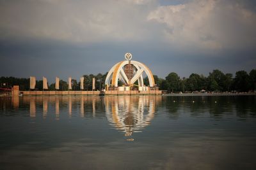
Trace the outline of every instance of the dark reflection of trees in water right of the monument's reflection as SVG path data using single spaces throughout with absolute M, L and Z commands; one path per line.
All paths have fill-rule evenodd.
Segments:
M 243 102 L 237 101 L 237 99 Z M 182 111 L 189 111 L 192 117 L 199 117 L 209 113 L 211 117 L 221 118 L 225 113 L 233 112 L 234 104 L 241 106 L 243 103 L 247 105 L 241 106 L 241 110 L 251 108 L 253 113 L 252 106 L 254 106 L 253 102 L 255 101 L 251 99 L 250 103 L 248 103 L 248 99 L 241 99 L 241 96 L 238 96 L 237 99 L 234 96 L 170 96 L 164 97 L 163 103 L 172 118 L 179 117 Z

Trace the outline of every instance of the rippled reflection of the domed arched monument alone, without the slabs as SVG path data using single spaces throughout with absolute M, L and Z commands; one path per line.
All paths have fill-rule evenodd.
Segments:
M 156 99 L 161 99 L 161 97 L 106 97 L 106 117 L 111 125 L 123 131 L 126 137 L 131 137 L 133 132 L 141 132 L 154 118 Z M 134 139 L 127 140 L 133 141 Z

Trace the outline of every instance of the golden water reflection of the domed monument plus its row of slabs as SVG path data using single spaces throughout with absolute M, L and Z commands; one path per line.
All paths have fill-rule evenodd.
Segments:
M 49 113 L 49 101 L 55 103 L 56 120 L 60 120 L 60 100 L 61 107 L 68 106 L 68 116 L 72 117 L 72 104 L 79 102 L 80 117 L 84 117 L 84 105 L 91 108 L 92 117 L 96 117 L 96 106 L 102 107 L 106 111 L 108 121 L 117 130 L 125 133 L 124 136 L 131 137 L 133 132 L 141 132 L 150 124 L 156 111 L 156 104 L 162 100 L 161 96 L 106 96 L 100 97 L 73 97 L 72 96 L 56 96 L 56 97 L 29 97 L 30 99 L 30 117 L 36 117 L 36 103 L 43 106 L 43 117 L 47 117 Z M 28 102 L 28 97 L 24 97 L 24 103 Z M 84 104 L 85 103 L 85 104 Z M 14 106 L 14 104 L 13 104 Z M 97 108 L 98 109 L 98 108 Z M 104 116 L 104 115 L 102 115 Z M 128 139 L 132 141 L 133 139 Z

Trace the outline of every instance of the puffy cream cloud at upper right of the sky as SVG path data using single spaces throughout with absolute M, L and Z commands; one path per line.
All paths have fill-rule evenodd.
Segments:
M 255 42 L 256 15 L 237 3 L 195 0 L 186 4 L 159 6 L 147 18 L 162 24 L 168 41 L 202 48 L 230 48 Z M 253 29 L 252 29 L 253 28 Z

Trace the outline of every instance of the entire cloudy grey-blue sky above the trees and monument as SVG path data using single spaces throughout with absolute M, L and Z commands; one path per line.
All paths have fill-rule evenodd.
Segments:
M 164 78 L 256 68 L 246 0 L 0 0 L 0 76 L 106 73 L 131 52 Z

